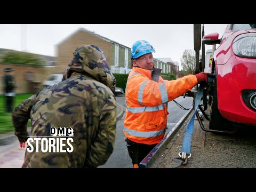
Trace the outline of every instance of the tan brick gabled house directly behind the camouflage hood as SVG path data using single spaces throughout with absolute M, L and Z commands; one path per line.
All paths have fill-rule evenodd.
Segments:
M 127 74 L 131 70 L 130 47 L 119 44 L 92 31 L 79 28 L 57 45 L 58 67 L 55 73 L 63 73 L 77 47 L 94 44 L 104 52 L 113 73 Z

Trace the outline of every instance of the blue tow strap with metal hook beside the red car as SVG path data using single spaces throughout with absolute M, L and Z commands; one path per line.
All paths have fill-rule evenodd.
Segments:
M 216 76 L 216 74 L 213 74 L 214 76 Z M 212 82 L 214 78 L 208 77 L 208 82 Z M 191 140 L 192 140 L 192 134 L 193 134 L 193 130 L 194 130 L 194 120 L 195 120 L 195 115 L 196 115 L 196 111 L 198 108 L 198 105 L 201 101 L 201 98 L 203 96 L 203 87 L 198 87 L 197 92 L 196 92 L 196 97 L 195 97 L 195 110 L 194 113 L 188 123 L 188 127 L 185 131 L 185 135 L 183 138 L 183 142 L 182 142 L 182 148 L 180 150 L 180 154 L 182 158 L 186 158 L 186 155 L 190 154 L 190 149 L 191 149 Z M 191 155 L 191 154 L 190 154 Z M 189 155 L 189 157 L 190 157 Z M 188 158 L 189 158 L 188 157 Z

